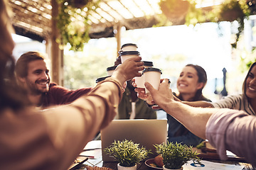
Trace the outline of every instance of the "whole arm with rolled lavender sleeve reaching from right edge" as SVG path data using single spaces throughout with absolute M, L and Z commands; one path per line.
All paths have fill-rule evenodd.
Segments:
M 154 89 L 148 82 L 145 83 L 156 104 L 193 134 L 203 139 L 207 137 L 210 144 L 217 149 L 220 159 L 227 159 L 226 150 L 230 150 L 256 166 L 255 116 L 228 108 L 195 108 L 174 101 L 172 94 L 166 93 L 169 89 L 167 82 L 164 79 L 159 90 Z

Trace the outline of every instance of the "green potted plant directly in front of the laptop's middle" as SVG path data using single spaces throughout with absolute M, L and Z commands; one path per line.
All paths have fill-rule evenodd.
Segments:
M 151 153 L 150 150 L 139 147 L 139 144 L 134 144 L 132 140 L 114 141 L 112 145 L 104 149 L 104 152 L 117 160 L 119 170 L 136 170 L 137 164 Z

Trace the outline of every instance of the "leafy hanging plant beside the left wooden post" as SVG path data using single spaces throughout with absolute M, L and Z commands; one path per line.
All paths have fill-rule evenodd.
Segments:
M 84 43 L 90 40 L 90 18 L 100 0 L 57 0 L 58 17 L 57 28 L 60 32 L 60 38 L 57 42 L 60 48 L 68 43 L 70 50 L 82 51 Z

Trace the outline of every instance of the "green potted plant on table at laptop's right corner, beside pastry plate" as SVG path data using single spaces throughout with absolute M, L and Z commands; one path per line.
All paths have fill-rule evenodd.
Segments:
M 183 164 L 193 160 L 201 164 L 201 159 L 197 157 L 198 153 L 193 152 L 192 147 L 182 145 L 181 143 L 162 143 L 160 145 L 154 145 L 156 147 L 156 153 L 160 154 L 163 161 L 163 169 L 183 169 Z

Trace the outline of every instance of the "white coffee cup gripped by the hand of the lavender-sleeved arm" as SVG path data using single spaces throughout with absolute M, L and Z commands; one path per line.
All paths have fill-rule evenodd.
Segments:
M 161 70 L 151 67 L 143 70 L 142 74 L 144 75 L 144 81 L 149 82 L 154 89 L 159 89 L 160 80 L 161 80 Z M 149 90 L 145 88 L 146 94 L 150 94 Z

